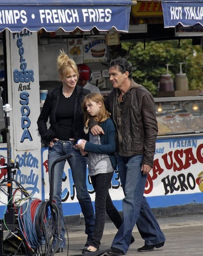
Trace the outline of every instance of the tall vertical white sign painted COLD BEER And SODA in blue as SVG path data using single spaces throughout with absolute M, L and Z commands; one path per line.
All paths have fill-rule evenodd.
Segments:
M 39 105 L 39 72 L 36 62 L 37 49 L 30 47 L 34 42 L 37 45 L 37 33 L 30 33 L 26 29 L 24 33 L 11 33 L 12 62 L 12 86 L 13 86 L 13 112 L 14 118 L 21 120 L 16 122 L 14 130 L 18 135 L 17 150 L 37 149 L 39 136 L 37 135 L 36 121 L 40 109 Z M 38 58 L 37 58 L 38 61 Z

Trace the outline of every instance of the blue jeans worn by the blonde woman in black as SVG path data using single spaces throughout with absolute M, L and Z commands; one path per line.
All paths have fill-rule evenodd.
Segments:
M 52 148 L 49 148 L 48 154 L 48 166 L 49 166 L 49 175 L 51 178 L 51 165 L 52 163 L 59 157 L 65 154 L 73 154 L 73 157 L 67 159 L 71 171 L 73 180 L 76 186 L 77 199 L 80 204 L 82 213 L 84 215 L 85 220 L 85 233 L 88 235 L 88 240 L 90 240 L 93 236 L 94 232 L 94 221 L 95 214 L 93 205 L 91 202 L 91 198 L 87 191 L 86 184 L 86 169 L 87 162 L 86 157 L 82 156 L 80 152 L 74 149 L 74 142 L 72 141 L 55 141 Z M 63 178 L 63 169 L 64 169 L 65 161 L 61 161 L 57 163 L 54 167 L 53 171 L 53 200 L 55 200 L 55 204 L 59 208 L 61 215 L 63 215 L 62 203 L 61 203 L 61 190 L 62 190 L 62 178 Z M 60 242 L 59 247 L 65 247 L 65 227 L 62 223 L 62 233 L 61 238 L 63 242 Z

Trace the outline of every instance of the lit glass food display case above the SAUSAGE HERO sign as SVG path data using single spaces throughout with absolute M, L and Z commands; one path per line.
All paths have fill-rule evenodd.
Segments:
M 158 137 L 203 134 L 203 96 L 154 98 Z

